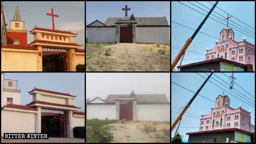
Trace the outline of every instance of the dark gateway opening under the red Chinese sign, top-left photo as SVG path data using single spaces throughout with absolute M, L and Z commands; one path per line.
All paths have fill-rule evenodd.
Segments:
M 42 66 L 43 71 L 70 71 L 67 51 L 63 49 L 42 48 Z

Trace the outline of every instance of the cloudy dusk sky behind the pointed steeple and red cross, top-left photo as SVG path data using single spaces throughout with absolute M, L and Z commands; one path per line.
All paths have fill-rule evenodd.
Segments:
M 52 8 L 54 14 L 59 17 L 54 17 L 55 30 L 71 31 L 72 33 L 78 33 L 74 38 L 76 44 L 82 45 L 82 49 L 85 46 L 85 2 L 1 2 L 4 6 L 5 22 L 10 29 L 10 20 L 13 20 L 16 7 L 19 7 L 20 18 L 25 21 L 24 30 L 33 30 L 34 26 L 40 28 L 52 29 Z M 28 44 L 34 40 L 34 35 L 28 32 Z

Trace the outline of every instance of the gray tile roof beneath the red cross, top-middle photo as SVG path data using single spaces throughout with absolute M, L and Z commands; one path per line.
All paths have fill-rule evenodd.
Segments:
M 122 20 L 122 18 L 108 18 L 104 24 L 107 26 L 115 26 L 117 20 Z M 145 17 L 145 18 L 135 18 L 138 26 L 168 26 L 166 17 Z

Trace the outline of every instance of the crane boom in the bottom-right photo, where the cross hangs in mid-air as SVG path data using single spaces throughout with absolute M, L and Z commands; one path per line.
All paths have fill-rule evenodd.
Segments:
M 174 129 L 174 127 L 176 126 L 176 124 L 178 124 L 179 120 L 181 120 L 183 114 L 186 112 L 186 110 L 188 110 L 188 108 L 190 107 L 190 104 L 194 101 L 194 99 L 196 98 L 196 96 L 199 94 L 200 90 L 202 90 L 202 88 L 204 87 L 204 85 L 206 84 L 206 82 L 210 79 L 210 77 L 212 76 L 213 72 L 206 78 L 206 80 L 204 81 L 204 83 L 202 84 L 202 86 L 200 86 L 200 88 L 196 91 L 196 93 L 194 94 L 194 96 L 191 98 L 191 100 L 188 102 L 188 104 L 184 107 L 184 109 L 182 110 L 182 112 L 180 113 L 180 115 L 178 116 L 178 118 L 175 120 L 175 122 L 172 124 L 172 130 Z

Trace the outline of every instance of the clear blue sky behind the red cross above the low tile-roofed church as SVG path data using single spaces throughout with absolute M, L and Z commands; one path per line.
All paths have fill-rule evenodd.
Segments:
M 94 20 L 105 22 L 108 17 L 122 18 L 128 6 L 128 17 L 133 13 L 135 17 L 166 17 L 170 25 L 170 2 L 86 2 L 87 25 Z

